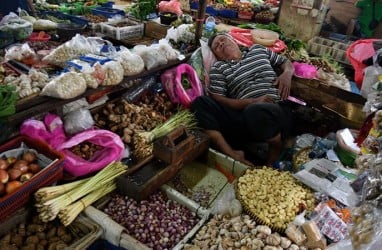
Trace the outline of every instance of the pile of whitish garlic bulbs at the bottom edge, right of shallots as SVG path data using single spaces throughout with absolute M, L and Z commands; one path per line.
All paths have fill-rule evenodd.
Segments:
M 249 215 L 229 218 L 215 215 L 204 225 L 185 250 L 197 249 L 306 249 L 299 247 L 278 233 L 272 233 L 268 226 L 256 225 Z

